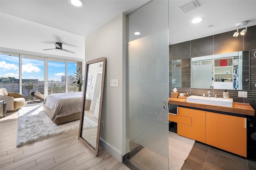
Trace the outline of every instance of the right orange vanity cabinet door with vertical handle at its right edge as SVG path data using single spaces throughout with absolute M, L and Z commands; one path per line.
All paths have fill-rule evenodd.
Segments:
M 206 144 L 246 157 L 246 118 L 206 111 Z

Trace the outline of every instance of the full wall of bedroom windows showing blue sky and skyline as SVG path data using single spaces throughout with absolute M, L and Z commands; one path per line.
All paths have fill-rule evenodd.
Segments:
M 82 71 L 82 61 L 0 51 L 0 88 L 22 94 L 26 101 L 36 100 L 33 91 L 44 97 L 78 91 L 75 76 Z

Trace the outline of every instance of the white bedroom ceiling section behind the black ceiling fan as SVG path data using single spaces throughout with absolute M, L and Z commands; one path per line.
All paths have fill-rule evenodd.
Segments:
M 64 49 L 74 51 L 43 50 L 55 48 L 61 42 Z M 0 12 L 0 48 L 2 51 L 30 55 L 84 60 L 84 37 L 10 16 Z

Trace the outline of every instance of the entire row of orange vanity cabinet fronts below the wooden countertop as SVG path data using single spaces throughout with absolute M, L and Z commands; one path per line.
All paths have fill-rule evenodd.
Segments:
M 177 107 L 177 134 L 246 157 L 246 118 Z M 190 122 L 191 121 L 191 122 Z

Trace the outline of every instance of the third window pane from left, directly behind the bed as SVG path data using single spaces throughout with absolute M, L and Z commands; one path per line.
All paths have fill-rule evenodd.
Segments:
M 48 58 L 48 95 L 66 92 L 66 61 Z

